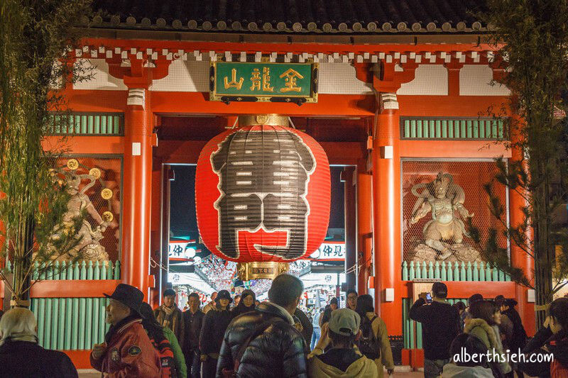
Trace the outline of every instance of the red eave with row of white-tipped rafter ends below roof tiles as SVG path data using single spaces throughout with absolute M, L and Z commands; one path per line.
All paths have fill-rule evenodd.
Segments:
M 134 42 L 134 43 L 133 43 Z M 136 47 L 133 47 L 136 46 Z M 115 64 L 125 60 L 143 60 L 146 62 L 172 62 L 182 61 L 224 61 L 224 62 L 261 62 L 268 58 L 268 62 L 333 62 L 333 63 L 378 63 L 400 64 L 481 64 L 488 65 L 496 60 L 496 52 L 490 49 L 483 50 L 476 45 L 464 45 L 464 50 L 440 51 L 432 48 L 432 45 L 417 45 L 408 50 L 390 50 L 391 46 L 364 46 L 364 50 L 357 50 L 357 46 L 351 52 L 345 47 L 338 51 L 319 52 L 317 45 L 302 45 L 297 48 L 290 46 L 290 52 L 256 51 L 251 52 L 250 46 L 238 45 L 238 48 L 226 50 L 223 43 L 219 45 L 200 44 L 189 45 L 190 49 L 182 49 L 185 46 L 180 43 L 172 43 L 171 46 L 164 43 L 153 43 L 152 40 L 84 40 L 84 45 L 75 50 L 75 57 L 112 60 Z M 441 45 L 439 46 L 441 47 Z M 438 48 L 439 48 L 438 47 Z M 455 45 L 453 46 L 455 48 Z M 312 48 L 314 50 L 312 50 Z M 425 50 L 420 50 L 424 48 Z M 197 50 L 193 50 L 197 49 Z M 214 49 L 214 50 L 210 50 Z M 151 64 L 151 63 L 150 63 Z

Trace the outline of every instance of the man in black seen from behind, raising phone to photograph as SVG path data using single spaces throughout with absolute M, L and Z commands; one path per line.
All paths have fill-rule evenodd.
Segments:
M 432 304 L 426 304 L 427 293 L 422 293 L 410 308 L 410 318 L 422 323 L 425 378 L 442 374 L 444 365 L 449 362 L 449 345 L 459 334 L 459 314 L 446 301 L 447 295 L 446 284 L 434 282 Z

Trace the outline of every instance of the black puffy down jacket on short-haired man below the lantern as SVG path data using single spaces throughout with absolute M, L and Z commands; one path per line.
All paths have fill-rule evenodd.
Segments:
M 307 377 L 306 356 L 309 352 L 302 335 L 294 328 L 292 317 L 284 308 L 270 302 L 256 306 L 256 311 L 245 313 L 226 329 L 217 377 L 223 369 L 234 367 L 234 356 L 257 326 L 272 319 L 272 324 L 250 341 L 241 357 L 237 377 Z

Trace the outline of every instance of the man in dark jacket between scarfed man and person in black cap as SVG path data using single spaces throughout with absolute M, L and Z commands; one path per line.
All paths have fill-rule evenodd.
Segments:
M 187 365 L 187 375 L 192 378 L 200 378 L 201 374 L 201 353 L 200 353 L 200 333 L 205 314 L 200 309 L 200 294 L 192 293 L 187 299 L 190 307 L 183 313 L 185 323 L 185 338 L 182 345 L 185 363 Z

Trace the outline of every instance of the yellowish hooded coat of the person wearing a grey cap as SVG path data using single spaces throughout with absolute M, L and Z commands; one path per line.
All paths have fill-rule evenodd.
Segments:
M 308 360 L 311 378 L 377 378 L 377 365 L 356 350 L 332 348 L 324 355 Z

